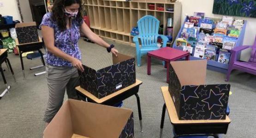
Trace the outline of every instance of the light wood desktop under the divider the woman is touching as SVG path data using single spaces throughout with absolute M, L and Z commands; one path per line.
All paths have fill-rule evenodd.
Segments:
M 121 90 L 119 90 L 119 91 L 117 91 L 117 92 L 114 92 L 114 93 L 112 93 L 112 94 L 110 94 L 110 95 L 108 95 L 108 96 L 106 96 L 106 97 L 100 98 L 100 99 L 97 98 L 97 97 L 95 97 L 94 95 L 92 95 L 90 92 L 84 90 L 84 89 L 81 88 L 80 86 L 77 86 L 77 87 L 76 87 L 76 90 L 79 91 L 79 92 L 81 92 L 81 93 L 83 93 L 86 97 L 88 97 L 88 98 L 94 100 L 96 103 L 101 104 L 101 103 L 103 103 L 103 102 L 105 102 L 105 101 L 107 101 L 107 100 L 109 100 L 109 99 L 111 99 L 111 98 L 113 98 L 113 97 L 119 95 L 120 93 L 123 93 L 123 92 L 125 92 L 125 91 L 127 91 L 127 90 L 129 90 L 129 89 L 131 89 L 131 88 L 133 88 L 133 87 L 135 87 L 135 86 L 141 85 L 141 84 L 142 84 L 142 81 L 136 80 L 136 82 L 135 82 L 134 84 L 132 84 L 132 85 L 130 85 L 130 86 L 127 86 L 127 87 L 125 87 L 124 89 L 121 89 Z

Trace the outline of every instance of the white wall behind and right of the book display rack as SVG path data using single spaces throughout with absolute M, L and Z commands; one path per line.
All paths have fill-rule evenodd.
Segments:
M 213 14 L 213 3 L 214 0 L 179 0 L 182 3 L 181 18 L 182 21 L 185 19 L 186 15 L 193 15 L 194 11 L 204 12 L 205 17 L 222 17 L 222 15 Z M 243 18 L 247 20 L 247 25 L 245 29 L 244 45 L 252 45 L 256 36 L 256 18 L 250 17 L 236 17 Z M 243 51 L 241 60 L 248 60 L 250 56 L 250 51 Z

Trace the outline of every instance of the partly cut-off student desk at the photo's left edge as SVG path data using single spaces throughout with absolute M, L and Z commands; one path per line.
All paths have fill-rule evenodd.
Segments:
M 11 66 L 11 63 L 9 61 L 9 59 L 7 58 L 7 48 L 6 49 L 0 49 L 0 72 L 1 72 L 1 75 L 2 75 L 2 78 L 4 80 L 4 83 L 6 85 L 6 89 L 4 92 L 2 92 L 0 94 L 0 99 L 6 94 L 6 92 L 9 92 L 9 89 L 11 88 L 11 86 L 7 86 L 7 82 L 6 82 L 6 78 L 5 78 L 5 75 L 4 75 L 4 71 L 2 69 L 2 63 L 8 63 L 7 67 L 8 69 L 10 69 L 10 71 L 12 72 L 12 77 L 14 78 L 14 81 L 16 82 L 16 79 L 15 79 L 15 76 L 14 76 L 14 73 L 13 73 L 13 70 L 12 70 L 12 66 Z

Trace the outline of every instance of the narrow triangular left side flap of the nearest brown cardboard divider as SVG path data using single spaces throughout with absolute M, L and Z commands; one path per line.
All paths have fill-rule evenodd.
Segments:
M 69 101 L 65 101 L 44 130 L 44 138 L 71 138 L 73 135 Z

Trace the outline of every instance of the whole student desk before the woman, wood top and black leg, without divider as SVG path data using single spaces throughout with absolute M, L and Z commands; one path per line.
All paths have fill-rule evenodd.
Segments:
M 97 104 L 104 104 L 104 105 L 109 105 L 109 106 L 114 106 L 115 104 L 118 104 L 119 102 L 125 100 L 126 98 L 129 98 L 132 95 L 135 95 L 137 98 L 140 128 L 141 128 L 141 132 L 143 132 L 140 98 L 138 95 L 139 86 L 141 84 L 142 84 L 142 81 L 136 80 L 136 82 L 134 84 L 127 86 L 124 89 L 121 89 L 117 92 L 114 92 L 114 93 L 112 93 L 106 97 L 100 98 L 100 99 L 95 97 L 94 95 L 92 95 L 90 92 L 84 90 L 80 86 L 77 86 L 76 90 L 77 90 L 78 98 L 80 98 L 83 101 L 97 103 Z

